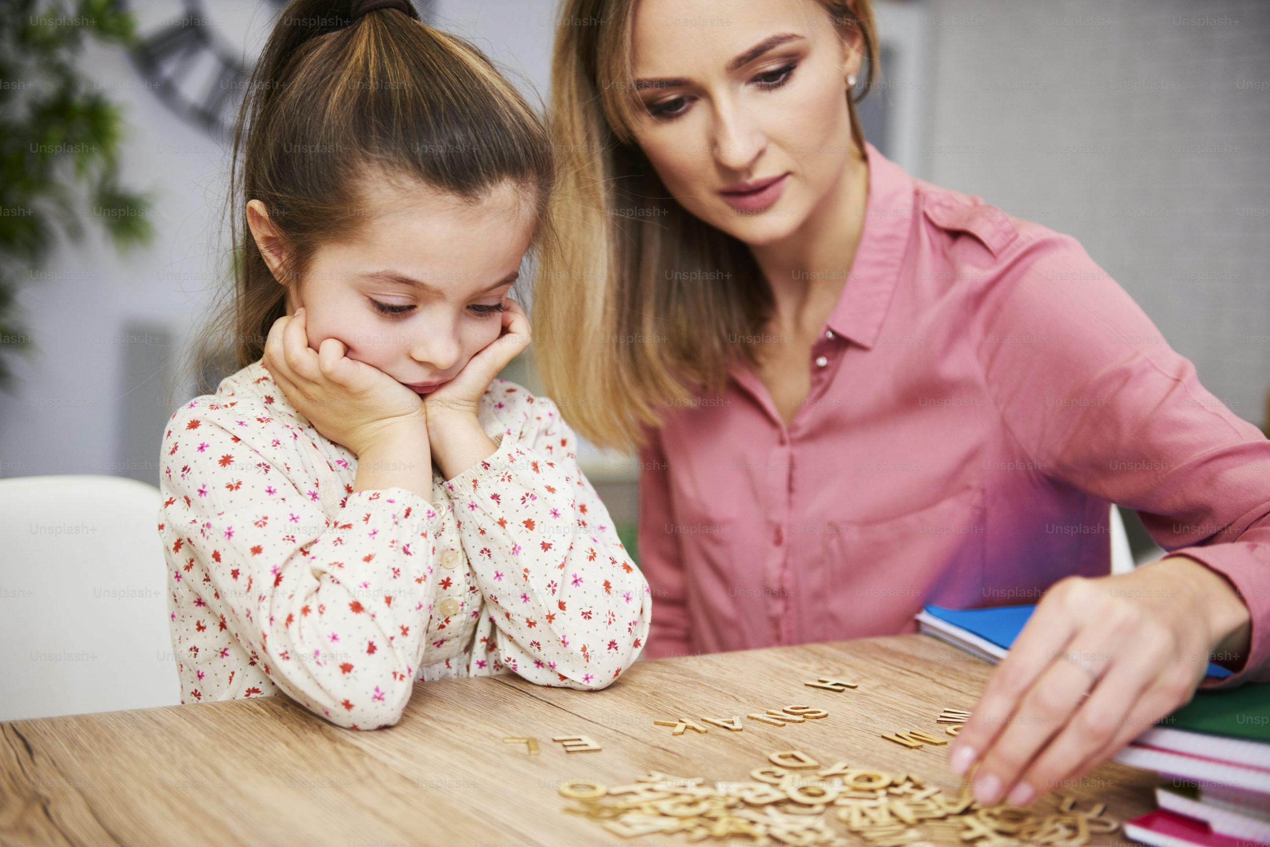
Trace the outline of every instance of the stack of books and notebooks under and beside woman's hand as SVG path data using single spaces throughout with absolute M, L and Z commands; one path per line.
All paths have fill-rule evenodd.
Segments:
M 927 606 L 919 631 L 998 662 L 1035 606 L 950 610 Z M 1209 664 L 1210 677 L 1231 672 Z M 1175 847 L 1270 846 L 1270 683 L 1198 691 L 1115 756 L 1157 771 L 1154 811 L 1124 822 L 1124 833 L 1147 844 Z

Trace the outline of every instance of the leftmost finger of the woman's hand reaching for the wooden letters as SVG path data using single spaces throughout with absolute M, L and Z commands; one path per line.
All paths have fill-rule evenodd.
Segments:
M 965 773 L 973 762 L 983 757 L 1010 725 L 1027 690 L 1049 668 L 1053 658 L 1067 648 L 1077 629 L 1077 621 L 1067 608 L 1071 592 L 1072 584 L 1063 580 L 1041 598 L 1013 646 L 992 672 L 970 720 L 949 748 L 954 773 Z M 982 767 L 979 773 L 983 773 Z M 977 782 L 979 778 L 983 777 L 977 776 Z

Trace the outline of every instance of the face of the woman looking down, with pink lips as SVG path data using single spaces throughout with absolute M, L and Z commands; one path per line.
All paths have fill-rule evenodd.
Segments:
M 815 0 L 640 0 L 635 138 L 686 210 L 757 246 L 837 187 L 860 71 L 843 32 Z

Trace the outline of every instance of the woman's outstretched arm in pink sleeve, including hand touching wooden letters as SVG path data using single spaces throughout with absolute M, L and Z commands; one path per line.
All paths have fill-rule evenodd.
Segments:
M 980 803 L 1097 767 L 1190 700 L 1218 650 L 1238 668 L 1227 684 L 1270 678 L 1270 442 L 1074 239 L 1020 245 L 972 330 L 1031 339 L 980 345 L 1002 424 L 1052 477 L 1143 513 L 1171 552 L 1041 598 L 952 744 L 956 772 L 980 762 Z

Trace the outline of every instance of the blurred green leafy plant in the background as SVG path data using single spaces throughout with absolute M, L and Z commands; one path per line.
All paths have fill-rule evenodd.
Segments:
M 113 0 L 10 0 L 0 13 L 0 389 L 32 343 L 18 286 L 39 278 L 57 231 L 80 240 L 89 208 L 116 249 L 152 236 L 149 198 L 118 183 L 122 109 L 75 67 L 90 38 L 130 46 L 131 15 Z

